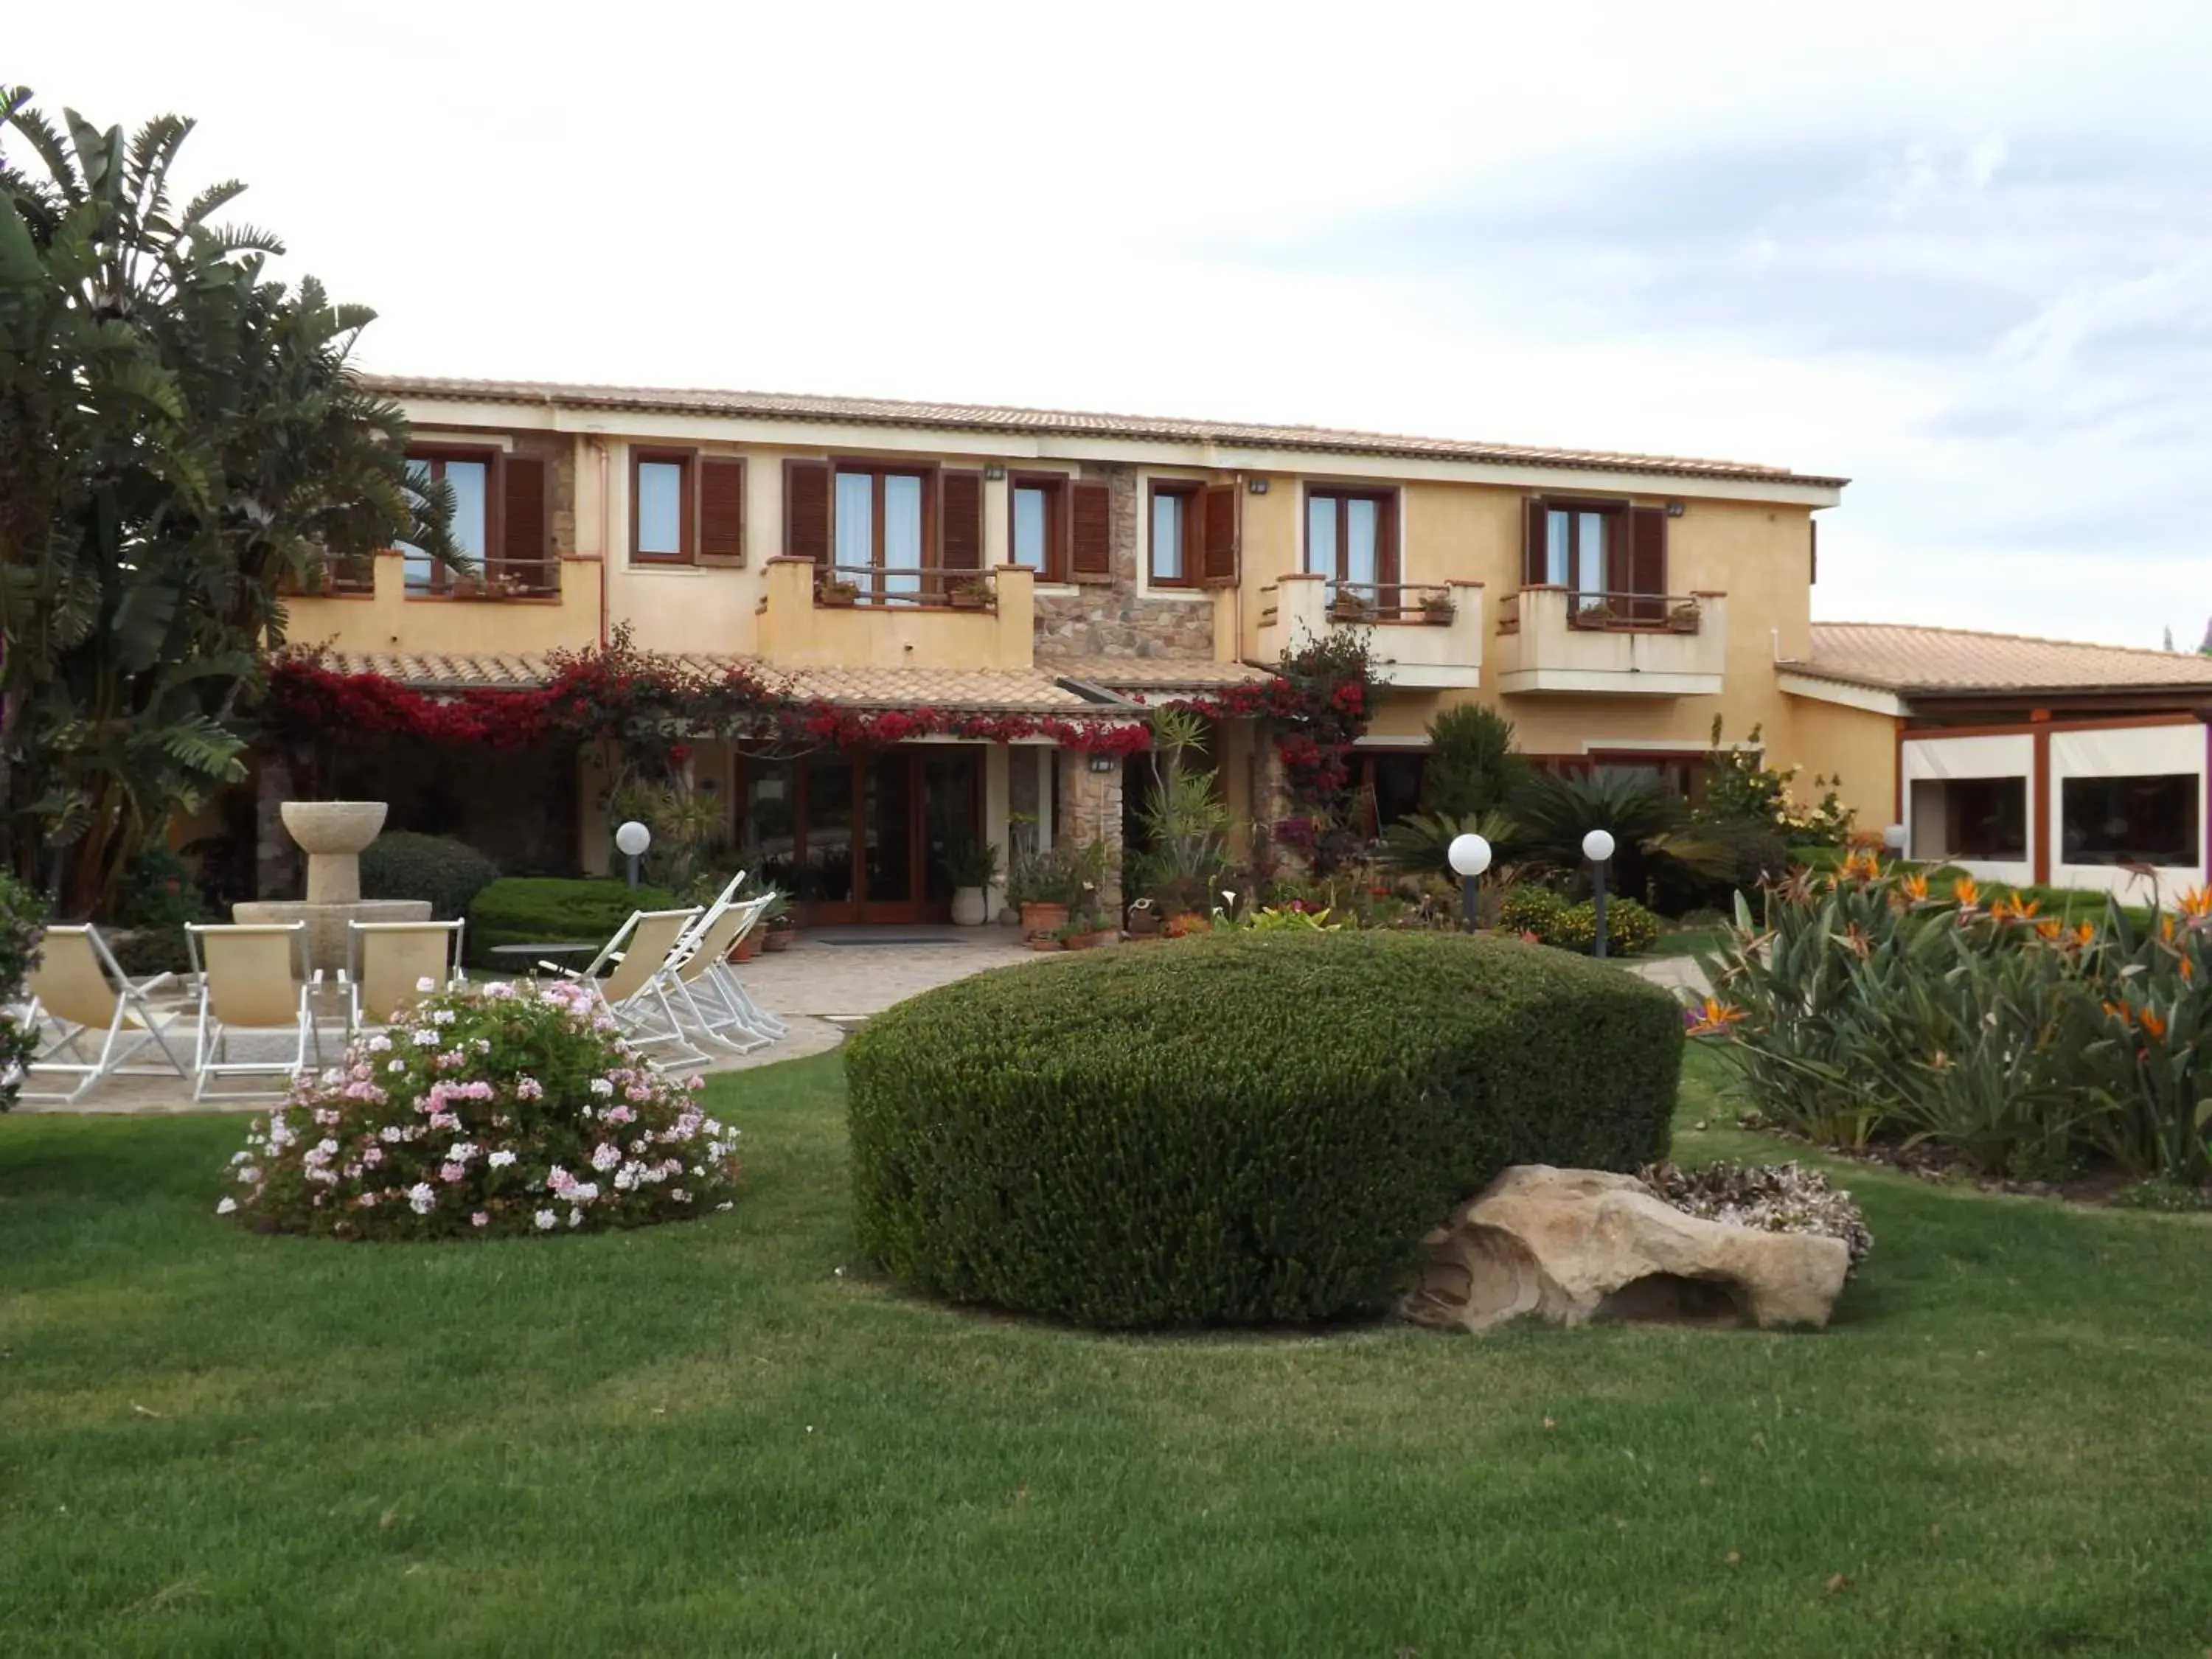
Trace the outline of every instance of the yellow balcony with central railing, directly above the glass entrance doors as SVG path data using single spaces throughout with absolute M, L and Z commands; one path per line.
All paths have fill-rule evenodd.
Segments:
M 783 668 L 1029 668 L 1033 575 L 770 560 L 759 653 Z

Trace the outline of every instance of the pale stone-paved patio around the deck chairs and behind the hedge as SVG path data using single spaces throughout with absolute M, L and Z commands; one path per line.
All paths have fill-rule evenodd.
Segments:
M 929 991 L 951 980 L 964 980 L 984 969 L 1037 960 L 1011 927 L 821 927 L 801 933 L 787 951 L 763 953 L 745 962 L 741 973 L 754 1000 L 790 1024 L 790 1035 L 750 1055 L 730 1055 L 701 1071 L 748 1071 L 781 1060 L 803 1060 L 827 1053 L 845 1040 L 845 1031 L 894 1002 Z M 1692 958 L 1652 958 L 1628 964 L 1632 973 L 1672 989 L 1703 993 L 1705 980 Z M 478 975 L 482 978 L 482 975 Z M 192 1011 L 179 1006 L 168 1029 L 170 1046 L 190 1060 Z M 334 1060 L 345 1044 L 338 1020 L 323 1024 L 323 1055 Z M 237 1037 L 239 1060 L 279 1057 L 288 1044 L 279 1037 Z M 252 1086 L 259 1079 L 232 1079 Z M 51 1084 L 49 1084 L 51 1086 Z M 115 1077 L 75 1106 L 64 1102 L 22 1102 L 22 1113 L 226 1113 L 259 1110 L 263 1099 L 195 1102 L 192 1086 L 177 1077 Z

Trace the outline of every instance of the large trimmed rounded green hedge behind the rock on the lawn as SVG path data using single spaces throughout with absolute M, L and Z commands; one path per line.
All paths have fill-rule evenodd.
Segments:
M 860 1248 L 1108 1329 L 1383 1307 L 1509 1164 L 1666 1155 L 1683 1022 L 1517 940 L 1210 933 L 980 973 L 845 1048 Z

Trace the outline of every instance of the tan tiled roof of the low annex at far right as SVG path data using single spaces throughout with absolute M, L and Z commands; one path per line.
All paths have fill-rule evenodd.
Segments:
M 1812 657 L 1785 666 L 1907 695 L 2161 688 L 2212 695 L 2212 657 L 1887 622 L 1816 622 Z

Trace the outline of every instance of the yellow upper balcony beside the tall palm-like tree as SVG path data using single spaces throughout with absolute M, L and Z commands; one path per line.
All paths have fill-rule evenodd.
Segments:
M 409 575 L 389 549 L 332 562 L 285 597 L 285 633 L 334 650 L 507 655 L 582 648 L 599 637 L 597 582 L 564 580 L 571 560 L 484 560 L 469 573 Z

